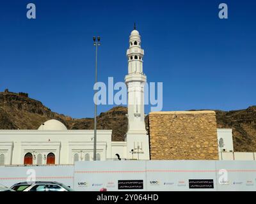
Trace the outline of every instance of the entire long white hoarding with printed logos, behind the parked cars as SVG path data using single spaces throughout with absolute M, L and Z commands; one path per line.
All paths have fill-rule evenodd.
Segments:
M 57 181 L 76 191 L 256 191 L 256 161 L 80 161 L 1 166 L 0 184 Z

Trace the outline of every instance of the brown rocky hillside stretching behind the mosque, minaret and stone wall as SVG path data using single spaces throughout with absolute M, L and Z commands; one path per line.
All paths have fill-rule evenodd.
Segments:
M 98 129 L 112 129 L 112 140 L 123 141 L 127 131 L 127 108 L 116 106 L 97 117 Z M 0 129 L 37 129 L 49 119 L 63 122 L 68 129 L 93 129 L 93 119 L 72 119 L 51 112 L 40 101 L 28 98 L 25 93 L 0 92 Z M 223 112 L 216 110 L 218 128 L 233 128 L 236 151 L 256 152 L 256 106 L 246 110 Z M 148 129 L 148 117 L 145 119 Z

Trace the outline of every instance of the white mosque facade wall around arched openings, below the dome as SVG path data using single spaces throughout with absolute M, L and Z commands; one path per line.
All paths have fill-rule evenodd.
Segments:
M 0 130 L 0 154 L 4 154 L 4 164 L 23 164 L 27 152 L 35 156 L 33 164 L 38 154 L 44 157 L 50 152 L 55 154 L 55 164 L 74 163 L 76 153 L 82 155 L 82 160 L 89 153 L 92 160 L 93 134 L 93 130 Z M 101 160 L 112 158 L 111 134 L 111 130 L 97 131 L 97 152 Z

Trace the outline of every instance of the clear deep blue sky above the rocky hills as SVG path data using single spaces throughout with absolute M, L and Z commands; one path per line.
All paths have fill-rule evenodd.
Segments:
M 26 4 L 36 4 L 36 19 Z M 228 19 L 218 5 L 228 4 Z M 256 1 L 1 1 L 0 91 L 28 92 L 52 111 L 93 117 L 99 81 L 124 81 L 136 22 L 148 82 L 163 82 L 163 110 L 256 105 Z M 112 106 L 99 106 L 99 113 Z M 148 113 L 148 106 L 146 112 Z

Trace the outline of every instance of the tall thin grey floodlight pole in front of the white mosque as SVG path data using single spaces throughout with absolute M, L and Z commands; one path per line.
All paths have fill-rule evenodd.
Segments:
M 97 84 L 97 54 L 98 54 L 98 46 L 100 45 L 100 37 L 97 37 L 97 41 L 96 41 L 96 37 L 93 36 L 93 45 L 96 47 L 96 57 L 95 57 L 95 84 Z M 95 105 L 95 109 L 94 109 L 94 140 L 93 140 L 93 161 L 96 161 L 96 150 L 97 150 L 97 97 L 96 97 L 96 93 L 97 93 L 97 87 L 95 87 L 95 91 L 94 91 L 94 97 L 95 97 L 95 101 L 94 101 L 94 105 Z

